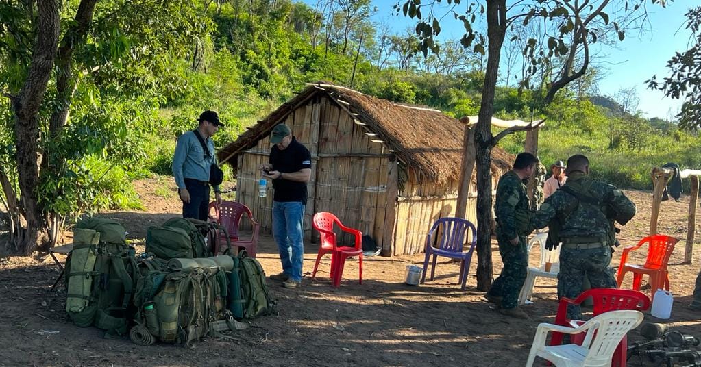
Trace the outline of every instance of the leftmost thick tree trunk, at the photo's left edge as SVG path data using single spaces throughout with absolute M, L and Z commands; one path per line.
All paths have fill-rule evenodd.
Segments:
M 27 79 L 18 97 L 13 98 L 15 118 L 15 146 L 20 183 L 20 202 L 25 208 L 27 232 L 18 244 L 18 252 L 29 255 L 34 251 L 39 233 L 46 223 L 39 208 L 36 188 L 39 183 L 39 107 L 43 102 L 46 84 L 51 76 L 58 46 L 60 29 L 58 1 L 37 1 L 36 44 L 29 65 Z

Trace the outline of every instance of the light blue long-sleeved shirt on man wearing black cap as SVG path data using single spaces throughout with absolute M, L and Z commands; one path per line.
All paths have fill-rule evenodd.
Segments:
M 209 158 L 205 158 L 205 151 L 194 132 L 186 132 L 177 138 L 172 170 L 178 188 L 185 188 L 185 179 L 210 181 L 210 167 L 212 162 L 217 162 L 217 156 L 214 141 L 207 138 L 205 143 L 210 151 Z M 219 191 L 219 186 L 213 186 L 213 188 Z

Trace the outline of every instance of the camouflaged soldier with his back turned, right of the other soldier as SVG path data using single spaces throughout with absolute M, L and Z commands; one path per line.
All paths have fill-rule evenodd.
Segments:
M 585 277 L 592 288 L 616 288 L 611 247 L 616 244 L 613 221 L 625 225 L 635 205 L 613 185 L 589 176 L 589 160 L 573 155 L 567 160 L 567 182 L 550 195 L 533 218 L 535 228 L 550 225 L 547 247 L 562 243 L 557 296 L 576 298 Z M 569 319 L 581 319 L 578 305 L 567 308 Z

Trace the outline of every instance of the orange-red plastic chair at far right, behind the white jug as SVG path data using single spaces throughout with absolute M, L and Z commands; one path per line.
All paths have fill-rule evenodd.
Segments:
M 643 275 L 648 275 L 650 282 L 651 296 L 654 297 L 655 291 L 664 287 L 669 291 L 669 272 L 667 272 L 667 262 L 672 256 L 674 245 L 679 242 L 674 237 L 665 235 L 653 235 L 640 240 L 637 245 L 626 247 L 620 256 L 620 265 L 618 266 L 618 286 L 623 283 L 623 278 L 626 272 L 633 273 L 633 289 L 640 290 L 640 284 L 643 280 Z M 643 244 L 649 243 L 648 258 L 644 265 L 631 265 L 626 263 L 630 251 L 639 249 Z

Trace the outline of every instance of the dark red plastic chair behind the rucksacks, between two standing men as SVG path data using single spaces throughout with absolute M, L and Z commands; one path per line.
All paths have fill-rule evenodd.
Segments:
M 253 235 L 248 240 L 243 240 L 238 236 L 238 226 L 241 221 L 243 214 L 248 216 L 253 226 Z M 231 241 L 231 246 L 243 247 L 246 249 L 248 256 L 254 258 L 256 257 L 256 247 L 258 245 L 258 231 L 260 230 L 260 224 L 253 219 L 253 214 L 251 209 L 247 206 L 234 201 L 222 201 L 221 205 L 217 205 L 217 202 L 210 202 L 210 219 L 216 221 L 224 228 L 226 232 L 229 233 L 229 240 Z M 226 239 L 219 235 L 217 241 L 215 242 L 215 248 L 212 252 L 215 256 L 222 254 L 224 252 L 223 246 L 226 246 Z

